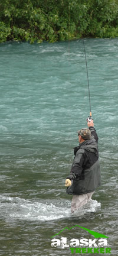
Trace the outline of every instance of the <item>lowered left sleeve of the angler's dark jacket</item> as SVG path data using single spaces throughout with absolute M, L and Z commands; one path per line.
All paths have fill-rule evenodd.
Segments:
M 67 179 L 74 180 L 75 178 L 81 176 L 81 173 L 83 171 L 83 163 L 84 163 L 84 150 L 81 148 L 76 153 L 76 157 L 74 158 L 73 165 L 71 167 L 71 171 Z

